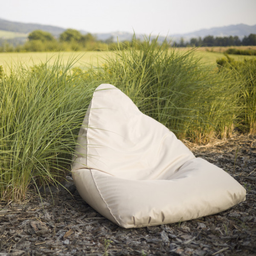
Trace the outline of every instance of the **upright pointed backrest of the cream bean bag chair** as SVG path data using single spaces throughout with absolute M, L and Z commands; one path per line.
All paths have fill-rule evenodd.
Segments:
M 168 128 L 140 112 L 111 84 L 101 84 L 79 132 L 73 170 L 96 169 L 131 180 L 166 179 L 191 151 Z

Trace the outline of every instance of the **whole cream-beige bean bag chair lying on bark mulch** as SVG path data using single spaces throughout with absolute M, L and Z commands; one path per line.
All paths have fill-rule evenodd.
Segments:
M 93 94 L 72 174 L 81 197 L 125 228 L 214 214 L 244 201 L 246 194 L 227 172 L 195 158 L 111 84 Z

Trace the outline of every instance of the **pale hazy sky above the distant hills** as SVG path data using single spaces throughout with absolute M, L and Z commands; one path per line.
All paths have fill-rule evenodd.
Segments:
M 256 0 L 3 0 L 0 18 L 87 32 L 173 35 L 256 24 Z

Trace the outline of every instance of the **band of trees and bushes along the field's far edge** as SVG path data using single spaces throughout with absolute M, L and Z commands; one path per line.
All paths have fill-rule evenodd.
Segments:
M 143 43 L 138 39 L 136 39 L 136 41 L 138 44 Z M 131 45 L 132 41 L 125 41 L 122 42 L 121 47 L 128 48 L 131 47 Z M 212 35 L 208 35 L 204 38 L 191 38 L 189 42 L 185 42 L 184 39 L 181 38 L 179 43 L 174 42 L 170 45 L 175 47 L 253 46 L 256 45 L 256 34 L 244 36 L 243 39 L 240 39 L 238 36 L 213 37 Z M 34 30 L 29 33 L 24 44 L 14 46 L 8 42 L 2 43 L 0 45 L 0 52 L 113 50 L 116 49 L 116 47 L 117 43 L 113 42 L 113 38 L 100 41 L 92 34 L 87 33 L 86 35 L 82 35 L 81 32 L 76 29 L 67 29 L 62 32 L 58 38 L 54 37 L 50 32 Z

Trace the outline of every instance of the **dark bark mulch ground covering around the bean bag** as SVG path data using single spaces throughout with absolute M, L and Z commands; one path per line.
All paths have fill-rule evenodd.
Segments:
M 53 198 L 31 195 L 23 204 L 0 206 L 0 256 L 256 255 L 256 135 L 185 144 L 238 180 L 246 201 L 191 221 L 124 229 L 86 204 L 70 181 L 71 194 L 60 189 Z

